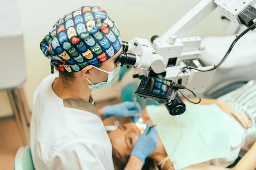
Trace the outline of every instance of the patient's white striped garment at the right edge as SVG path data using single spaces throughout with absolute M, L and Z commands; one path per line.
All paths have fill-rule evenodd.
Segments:
M 241 88 L 221 96 L 218 99 L 227 102 L 230 106 L 250 118 L 252 127 L 246 132 L 245 143 L 241 151 L 249 150 L 256 141 L 256 80 L 252 80 Z M 241 155 L 244 155 L 244 152 L 241 153 Z

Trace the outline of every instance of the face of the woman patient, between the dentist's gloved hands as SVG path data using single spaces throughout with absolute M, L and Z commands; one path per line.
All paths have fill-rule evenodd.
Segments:
M 140 130 L 134 123 L 125 123 L 120 125 L 116 130 L 108 133 L 111 140 L 113 152 L 117 158 L 122 159 L 129 156 L 134 148 Z

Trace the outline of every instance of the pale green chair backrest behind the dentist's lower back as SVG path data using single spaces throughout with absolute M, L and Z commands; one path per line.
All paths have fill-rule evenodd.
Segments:
M 30 147 L 20 147 L 15 156 L 14 170 L 35 170 Z

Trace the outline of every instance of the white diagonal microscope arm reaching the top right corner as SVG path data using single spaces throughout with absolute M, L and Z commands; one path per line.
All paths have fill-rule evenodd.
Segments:
M 185 37 L 198 23 L 207 17 L 215 8 L 218 8 L 222 15 L 228 20 L 236 23 L 239 27 L 243 24 L 247 25 L 241 19 L 241 14 L 248 6 L 255 8 L 256 0 L 201 0 L 194 8 L 192 8 L 186 15 L 184 15 L 172 28 L 170 28 L 160 39 L 176 37 Z M 255 12 L 255 11 L 253 11 Z M 245 15 L 250 16 L 251 11 L 246 11 Z

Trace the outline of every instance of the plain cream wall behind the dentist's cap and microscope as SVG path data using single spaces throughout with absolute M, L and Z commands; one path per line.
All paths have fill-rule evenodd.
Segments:
M 42 54 L 39 43 L 52 25 L 64 14 L 84 5 L 101 6 L 115 19 L 122 40 L 132 37 L 150 39 L 162 35 L 200 0 L 19 0 L 25 38 L 27 82 L 25 91 L 32 105 L 32 94 L 41 80 L 50 74 L 50 61 Z M 194 28 L 189 36 L 224 35 L 227 22 L 220 20 L 218 11 L 210 14 Z M 102 99 L 102 93 L 118 95 L 110 87 L 96 91 L 94 98 Z M 1 96 L 1 101 L 3 96 Z

